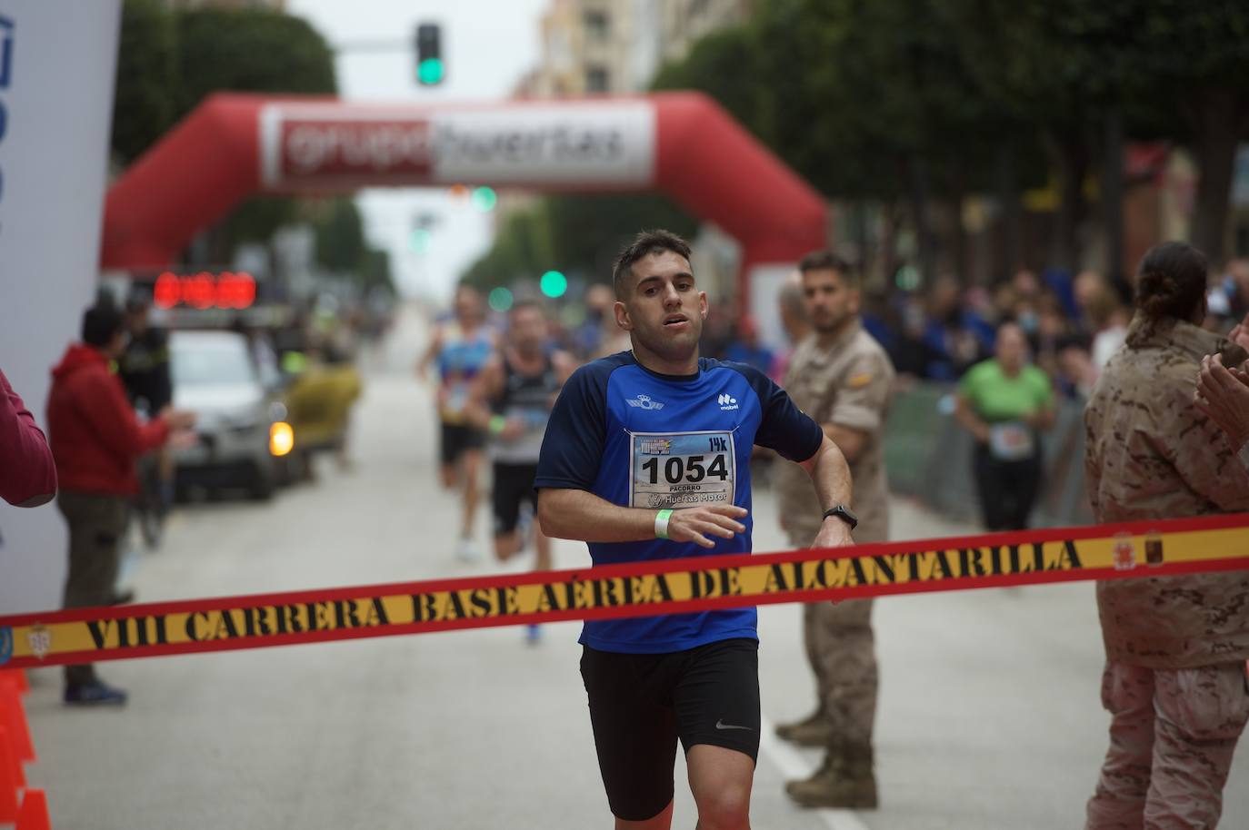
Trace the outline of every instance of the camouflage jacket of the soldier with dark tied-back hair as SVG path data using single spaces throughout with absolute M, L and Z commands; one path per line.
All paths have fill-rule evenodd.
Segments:
M 1098 522 L 1249 510 L 1249 474 L 1193 406 L 1203 356 L 1244 349 L 1192 323 L 1138 315 L 1084 409 L 1084 471 Z M 1155 669 L 1249 659 L 1249 572 L 1098 583 L 1107 658 Z

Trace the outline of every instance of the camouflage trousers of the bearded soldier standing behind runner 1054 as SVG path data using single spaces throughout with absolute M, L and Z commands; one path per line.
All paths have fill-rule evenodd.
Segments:
M 836 740 L 872 745 L 876 721 L 876 638 L 871 599 L 809 603 L 803 607 L 803 639 L 816 674 L 819 703 Z

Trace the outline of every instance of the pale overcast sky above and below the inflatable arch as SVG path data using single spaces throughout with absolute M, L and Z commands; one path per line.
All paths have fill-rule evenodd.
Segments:
M 290 14 L 309 19 L 332 46 L 338 92 L 371 101 L 497 100 L 511 95 L 537 65 L 538 25 L 548 0 L 287 0 Z M 442 24 L 447 80 L 420 87 L 411 46 L 418 22 Z M 391 41 L 395 50 L 358 51 L 352 44 Z M 491 218 L 443 190 L 365 190 L 360 207 L 370 241 L 391 252 L 403 293 L 450 296 L 460 272 L 490 243 Z M 417 213 L 438 213 L 431 250 L 408 250 Z

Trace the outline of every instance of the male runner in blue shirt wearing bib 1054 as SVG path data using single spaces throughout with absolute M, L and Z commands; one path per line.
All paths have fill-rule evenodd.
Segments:
M 811 474 L 816 547 L 852 544 L 851 474 L 837 446 L 762 372 L 698 357 L 707 295 L 689 246 L 638 235 L 616 261 L 616 321 L 632 352 L 577 369 L 538 461 L 538 518 L 590 543 L 596 565 L 751 549 L 751 447 Z M 581 673 L 617 830 L 672 823 L 677 740 L 701 830 L 749 828 L 759 748 L 753 608 L 587 622 Z

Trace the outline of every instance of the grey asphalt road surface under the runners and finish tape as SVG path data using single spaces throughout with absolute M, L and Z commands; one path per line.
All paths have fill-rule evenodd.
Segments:
M 435 481 L 430 391 L 410 367 L 413 316 L 367 361 L 351 472 L 270 504 L 189 505 L 141 553 L 144 600 L 486 574 L 452 555 L 453 498 Z M 783 547 L 756 496 L 756 550 Z M 894 503 L 896 538 L 970 530 Z M 480 539 L 487 542 L 487 517 Z M 560 544 L 557 567 L 583 564 Z M 518 567 L 523 567 L 523 563 Z M 782 784 L 818 763 L 766 740 L 756 828 L 1052 830 L 1083 826 L 1105 750 L 1102 647 L 1089 584 L 897 597 L 876 612 L 882 691 L 874 811 L 806 811 Z M 761 609 L 763 713 L 806 714 L 799 609 Z M 32 673 L 27 710 L 57 830 L 611 826 L 577 673 L 578 624 L 515 628 L 102 666 L 122 710 L 66 710 L 59 671 Z M 693 805 L 677 771 L 674 826 Z M 1223 828 L 1249 828 L 1249 749 Z

